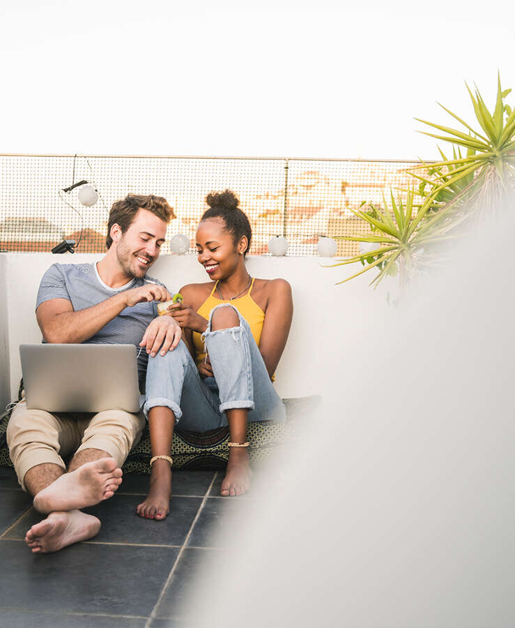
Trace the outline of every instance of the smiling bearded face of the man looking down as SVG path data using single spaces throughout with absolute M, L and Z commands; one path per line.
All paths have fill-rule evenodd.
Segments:
M 116 259 L 128 277 L 144 277 L 159 257 L 167 223 L 147 209 L 139 209 L 130 227 L 116 242 Z

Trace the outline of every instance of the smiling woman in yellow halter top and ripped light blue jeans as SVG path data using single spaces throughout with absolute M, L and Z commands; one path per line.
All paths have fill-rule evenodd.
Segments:
M 241 495 L 251 475 L 247 421 L 285 417 L 272 379 L 291 326 L 291 287 L 284 279 L 247 272 L 252 232 L 238 198 L 225 190 L 209 194 L 206 202 L 196 246 L 211 281 L 180 289 L 183 303 L 169 310 L 184 330 L 184 342 L 148 359 L 144 411 L 153 461 L 148 497 L 137 508 L 147 518 L 162 519 L 169 511 L 174 423 L 197 432 L 229 425 L 220 493 Z

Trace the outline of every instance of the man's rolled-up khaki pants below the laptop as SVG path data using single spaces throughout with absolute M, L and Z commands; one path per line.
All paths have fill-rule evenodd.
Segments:
M 7 426 L 7 442 L 18 481 L 24 491 L 26 472 L 44 463 L 66 470 L 63 458 L 82 449 L 101 449 L 121 467 L 129 451 L 141 438 L 145 426 L 143 412 L 104 410 L 97 414 L 28 410 L 20 401 Z M 62 456 L 62 457 L 61 457 Z

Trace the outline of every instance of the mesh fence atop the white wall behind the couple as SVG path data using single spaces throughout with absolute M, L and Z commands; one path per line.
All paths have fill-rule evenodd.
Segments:
M 192 157 L 0 156 L 0 250 L 50 251 L 75 239 L 77 251 L 105 251 L 112 203 L 128 193 L 167 198 L 177 218 L 167 238 L 184 233 L 194 245 L 199 218 L 212 190 L 230 188 L 252 225 L 251 254 L 268 253 L 273 235 L 289 240 L 289 255 L 316 255 L 321 235 L 366 233 L 351 209 L 383 206 L 383 192 L 413 185 L 408 161 L 299 160 Z M 100 195 L 93 207 L 78 199 L 86 180 Z M 357 245 L 339 241 L 338 255 Z M 164 246 L 163 253 L 169 253 Z

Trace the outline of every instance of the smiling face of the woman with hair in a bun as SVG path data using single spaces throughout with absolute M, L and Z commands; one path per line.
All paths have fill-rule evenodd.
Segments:
M 197 254 L 206 273 L 213 279 L 229 277 L 238 267 L 245 251 L 247 238 L 244 236 L 236 246 L 233 234 L 226 231 L 223 218 L 202 220 L 197 228 Z

